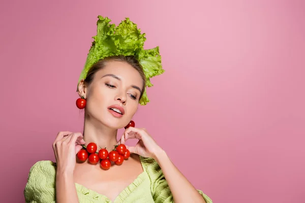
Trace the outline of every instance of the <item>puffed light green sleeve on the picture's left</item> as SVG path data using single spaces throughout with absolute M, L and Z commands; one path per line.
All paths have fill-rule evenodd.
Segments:
M 56 163 L 52 161 L 36 162 L 29 170 L 27 182 L 23 191 L 25 201 L 54 201 L 55 177 Z

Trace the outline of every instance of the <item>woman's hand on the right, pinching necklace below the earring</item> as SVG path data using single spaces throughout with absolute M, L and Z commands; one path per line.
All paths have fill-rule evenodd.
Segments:
M 128 139 L 138 139 L 136 146 L 126 146 L 130 153 L 135 153 L 143 157 L 156 159 L 163 149 L 151 138 L 145 128 L 129 127 L 123 133 L 119 143 L 125 144 Z

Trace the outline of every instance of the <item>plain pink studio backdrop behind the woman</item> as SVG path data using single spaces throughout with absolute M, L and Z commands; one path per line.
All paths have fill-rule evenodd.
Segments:
M 145 2 L 145 3 L 144 3 Z M 2 202 L 81 131 L 75 92 L 97 16 L 130 17 L 164 75 L 134 120 L 214 202 L 305 202 L 303 1 L 6 1 L 0 6 Z M 119 131 L 119 135 L 122 130 Z

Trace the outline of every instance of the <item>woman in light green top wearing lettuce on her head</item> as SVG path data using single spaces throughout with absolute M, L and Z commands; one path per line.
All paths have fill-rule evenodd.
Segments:
M 57 134 L 56 163 L 39 161 L 32 166 L 26 202 L 212 202 L 178 171 L 145 129 L 129 126 L 117 142 L 117 129 L 126 127 L 138 105 L 149 101 L 149 78 L 164 70 L 158 47 L 143 50 L 144 34 L 134 23 L 128 18 L 117 27 L 109 22 L 99 16 L 98 34 L 77 87 L 84 101 L 78 105 L 85 108 L 84 131 Z M 112 162 L 109 168 L 102 161 L 79 160 L 89 143 L 108 149 L 110 155 L 114 146 L 125 146 L 128 139 L 139 142 L 126 146 L 131 155 L 123 163 Z

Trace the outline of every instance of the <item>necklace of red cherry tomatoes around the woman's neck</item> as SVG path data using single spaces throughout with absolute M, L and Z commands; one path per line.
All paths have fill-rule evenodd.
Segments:
M 92 164 L 97 164 L 101 160 L 101 167 L 105 170 L 110 168 L 111 161 L 116 165 L 120 165 L 125 159 L 130 157 L 130 151 L 124 144 L 115 145 L 114 149 L 109 153 L 106 148 L 100 149 L 99 152 L 97 152 L 98 146 L 95 143 L 89 143 L 87 146 L 82 146 L 83 149 L 77 153 L 77 158 L 80 161 L 88 159 Z

